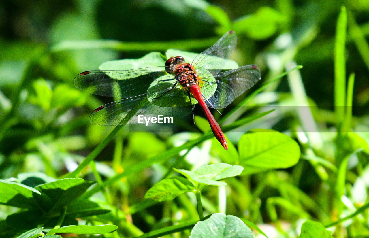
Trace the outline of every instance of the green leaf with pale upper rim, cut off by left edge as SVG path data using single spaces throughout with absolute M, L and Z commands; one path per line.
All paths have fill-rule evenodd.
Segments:
M 32 187 L 1 179 L 0 191 L 0 204 L 20 208 L 38 207 L 34 196 L 41 195 L 41 193 Z

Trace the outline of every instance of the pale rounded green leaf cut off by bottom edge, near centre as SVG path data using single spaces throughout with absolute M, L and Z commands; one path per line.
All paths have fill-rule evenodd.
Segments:
M 192 229 L 190 238 L 254 238 L 250 228 L 233 215 L 214 213 L 210 218 L 199 221 Z

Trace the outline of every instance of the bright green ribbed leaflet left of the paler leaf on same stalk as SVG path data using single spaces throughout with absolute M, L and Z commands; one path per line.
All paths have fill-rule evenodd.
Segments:
M 145 194 L 145 199 L 155 201 L 172 200 L 184 192 L 192 192 L 195 186 L 184 177 L 170 177 L 152 186 Z

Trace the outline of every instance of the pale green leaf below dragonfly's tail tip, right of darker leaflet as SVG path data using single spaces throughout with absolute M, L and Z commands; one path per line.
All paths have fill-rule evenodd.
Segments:
M 202 166 L 200 168 L 195 169 L 193 172 L 185 169 L 174 169 L 174 170 L 198 183 L 214 186 L 225 186 L 227 185 L 225 182 L 216 180 L 237 176 L 241 174 L 243 169 L 244 168 L 242 168 L 242 166 L 239 165 L 218 163 Z

